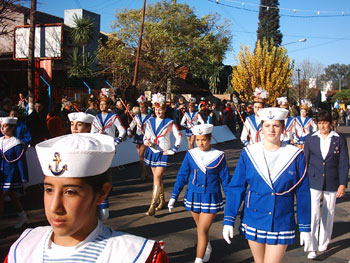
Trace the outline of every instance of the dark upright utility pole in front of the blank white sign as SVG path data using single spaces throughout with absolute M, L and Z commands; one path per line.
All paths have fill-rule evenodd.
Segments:
M 30 3 L 30 31 L 29 31 L 29 47 L 28 47 L 28 103 L 29 114 L 34 108 L 34 88 L 35 88 L 35 62 L 34 62 L 34 43 L 35 43 L 35 24 L 36 24 L 36 0 Z

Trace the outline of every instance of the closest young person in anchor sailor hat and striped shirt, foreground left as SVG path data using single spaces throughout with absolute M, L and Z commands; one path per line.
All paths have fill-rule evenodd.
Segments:
M 44 178 L 50 226 L 26 229 L 5 262 L 168 262 L 153 240 L 115 232 L 98 219 L 111 190 L 106 171 L 115 146 L 111 136 L 69 134 L 36 146 Z

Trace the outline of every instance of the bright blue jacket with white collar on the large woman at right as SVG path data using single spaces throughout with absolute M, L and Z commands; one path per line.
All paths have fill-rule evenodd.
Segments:
M 243 149 L 226 196 L 224 225 L 234 226 L 243 199 L 242 223 L 264 231 L 291 231 L 295 228 L 294 197 L 299 231 L 310 232 L 310 186 L 303 152 L 285 144 L 270 173 L 262 143 Z M 300 183 L 288 193 L 295 184 Z

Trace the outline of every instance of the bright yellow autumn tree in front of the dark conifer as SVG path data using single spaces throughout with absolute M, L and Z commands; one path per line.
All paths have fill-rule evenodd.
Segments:
M 273 104 L 291 86 L 294 61 L 284 47 L 272 41 L 258 41 L 252 53 L 249 46 L 241 46 L 235 60 L 231 84 L 242 101 L 251 101 L 255 88 L 262 87 L 269 93 L 268 103 Z

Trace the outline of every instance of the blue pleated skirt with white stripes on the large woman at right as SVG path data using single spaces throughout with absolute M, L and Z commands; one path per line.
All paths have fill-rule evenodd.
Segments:
M 259 230 L 242 223 L 240 233 L 246 239 L 268 245 L 292 245 L 295 241 L 295 230 L 269 232 Z

